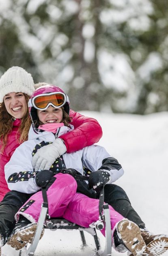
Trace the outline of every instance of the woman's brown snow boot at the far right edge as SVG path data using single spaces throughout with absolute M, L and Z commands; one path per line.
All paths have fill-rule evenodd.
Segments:
M 168 235 L 153 235 L 147 230 L 142 230 L 141 235 L 146 243 L 143 256 L 159 256 L 168 250 Z

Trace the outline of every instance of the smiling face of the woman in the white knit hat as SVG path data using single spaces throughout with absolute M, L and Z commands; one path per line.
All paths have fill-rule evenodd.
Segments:
M 15 118 L 23 118 L 28 109 L 24 93 L 8 93 L 4 96 L 4 104 L 7 112 Z

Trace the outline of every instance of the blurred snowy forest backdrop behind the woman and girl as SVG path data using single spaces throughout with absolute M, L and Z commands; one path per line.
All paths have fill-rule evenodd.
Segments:
M 24 67 L 75 110 L 167 111 L 167 14 L 165 0 L 1 0 L 0 72 Z

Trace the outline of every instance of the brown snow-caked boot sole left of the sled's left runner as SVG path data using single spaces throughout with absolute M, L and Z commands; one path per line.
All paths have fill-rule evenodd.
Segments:
M 11 236 L 7 244 L 11 245 L 11 247 L 15 248 L 16 250 L 22 249 L 27 243 L 32 243 L 36 229 L 37 223 L 34 223 L 32 224 L 32 226 L 20 230 L 20 232 L 18 231 L 13 236 Z M 44 229 L 42 230 L 41 237 L 43 236 L 43 234 Z

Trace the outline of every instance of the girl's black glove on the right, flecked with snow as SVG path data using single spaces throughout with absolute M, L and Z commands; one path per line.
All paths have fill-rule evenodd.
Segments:
M 91 172 L 88 178 L 88 189 L 100 192 L 103 186 L 110 180 L 110 174 L 105 170 Z

